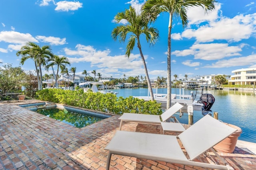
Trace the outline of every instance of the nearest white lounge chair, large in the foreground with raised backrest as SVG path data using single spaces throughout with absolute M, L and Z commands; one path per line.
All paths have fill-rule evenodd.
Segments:
M 109 169 L 112 154 L 202 168 L 233 169 L 212 147 L 235 131 L 236 129 L 225 125 L 210 115 L 205 115 L 178 136 L 117 131 L 105 148 L 109 150 L 106 169 Z M 189 158 L 183 153 L 177 138 L 182 142 Z M 224 165 L 216 164 L 216 162 L 215 164 L 210 164 L 192 161 L 209 149 L 218 156 Z

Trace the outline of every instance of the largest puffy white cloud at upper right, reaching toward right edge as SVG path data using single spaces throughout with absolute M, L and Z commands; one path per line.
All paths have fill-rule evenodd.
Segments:
M 221 18 L 209 25 L 202 25 L 198 29 L 186 29 L 182 37 L 196 38 L 197 42 L 214 40 L 240 41 L 248 39 L 256 31 L 256 13 L 246 16 L 240 14 L 234 18 Z

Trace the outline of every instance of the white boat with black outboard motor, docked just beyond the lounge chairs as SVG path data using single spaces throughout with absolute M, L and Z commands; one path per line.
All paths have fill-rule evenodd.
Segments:
M 191 95 L 180 94 L 171 94 L 171 106 L 175 103 L 180 103 L 184 107 L 182 108 L 184 112 L 191 112 L 191 109 L 188 106 L 192 106 L 192 111 L 202 111 L 203 115 L 212 112 L 211 107 L 215 102 L 214 96 L 212 94 L 203 94 L 203 88 L 195 88 L 196 93 L 191 92 Z M 134 98 L 143 99 L 145 101 L 150 100 L 150 96 L 133 96 Z M 162 109 L 166 109 L 167 104 L 167 94 L 154 94 L 154 100 L 161 103 Z

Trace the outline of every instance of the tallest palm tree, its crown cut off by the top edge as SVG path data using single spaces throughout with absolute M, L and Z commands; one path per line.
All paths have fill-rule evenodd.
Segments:
M 167 49 L 167 106 L 171 106 L 172 80 L 171 80 L 171 31 L 172 18 L 180 17 L 183 27 L 188 25 L 187 8 L 191 6 L 202 6 L 208 12 L 215 8 L 215 0 L 147 0 L 142 6 L 144 15 L 148 16 L 151 21 L 155 21 L 157 16 L 162 12 L 168 12 L 168 49 Z

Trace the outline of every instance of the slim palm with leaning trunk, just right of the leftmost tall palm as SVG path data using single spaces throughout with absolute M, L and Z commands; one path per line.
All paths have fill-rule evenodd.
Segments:
M 57 66 L 57 72 L 56 72 L 56 76 L 55 76 L 55 83 L 52 86 L 52 88 L 54 88 L 56 86 L 57 83 L 57 78 L 58 78 L 58 73 L 59 73 L 59 68 L 61 70 L 64 70 L 66 68 L 66 64 L 70 65 L 70 62 L 68 61 L 67 57 L 59 57 L 58 55 L 54 55 L 53 57 L 51 57 L 50 59 L 48 59 L 48 62 L 51 62 L 50 64 L 48 64 L 45 68 L 48 71 L 49 67 L 53 67 L 54 65 Z

